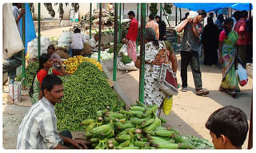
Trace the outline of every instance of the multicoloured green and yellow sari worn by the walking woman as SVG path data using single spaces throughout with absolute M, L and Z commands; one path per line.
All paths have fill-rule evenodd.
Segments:
M 222 45 L 222 83 L 221 88 L 226 90 L 240 91 L 238 85 L 238 77 L 234 66 L 236 59 L 236 41 L 238 40 L 238 33 L 232 30 L 228 37 L 224 40 Z

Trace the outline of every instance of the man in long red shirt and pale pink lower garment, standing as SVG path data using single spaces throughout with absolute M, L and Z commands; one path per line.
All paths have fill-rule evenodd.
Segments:
M 137 60 L 136 40 L 138 37 L 138 20 L 135 18 L 134 11 L 128 13 L 130 26 L 126 35 L 126 45 L 128 56 L 135 62 Z

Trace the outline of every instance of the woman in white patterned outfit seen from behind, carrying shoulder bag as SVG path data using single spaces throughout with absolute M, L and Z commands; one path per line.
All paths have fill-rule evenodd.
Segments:
M 159 88 L 157 83 L 160 67 L 165 61 L 165 50 L 162 47 L 163 45 L 158 43 L 154 29 L 146 28 L 144 101 L 146 105 L 158 105 L 158 116 L 160 116 L 162 102 L 166 97 L 166 93 Z M 158 54 L 159 51 L 161 53 Z M 178 65 L 173 49 L 167 50 L 167 55 L 176 73 Z

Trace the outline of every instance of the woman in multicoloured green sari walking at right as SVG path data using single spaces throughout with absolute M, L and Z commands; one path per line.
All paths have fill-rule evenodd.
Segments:
M 238 78 L 235 70 L 236 61 L 236 42 L 238 40 L 238 33 L 232 30 L 232 18 L 226 18 L 224 21 L 224 30 L 219 35 L 219 63 L 223 64 L 222 83 L 219 91 L 227 92 L 231 96 L 237 96 L 240 91 L 238 85 Z

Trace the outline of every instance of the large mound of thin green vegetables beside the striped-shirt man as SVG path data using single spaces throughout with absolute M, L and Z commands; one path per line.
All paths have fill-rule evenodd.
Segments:
M 110 88 L 105 74 L 90 62 L 82 62 L 73 75 L 61 78 L 64 97 L 55 107 L 59 131 L 82 131 L 82 120 L 96 117 L 98 110 L 125 106 Z

